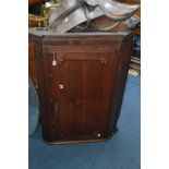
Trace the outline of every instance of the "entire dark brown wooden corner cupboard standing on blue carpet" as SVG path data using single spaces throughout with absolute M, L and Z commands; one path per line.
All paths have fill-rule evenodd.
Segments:
M 99 142 L 117 131 L 132 34 L 31 32 L 44 141 Z

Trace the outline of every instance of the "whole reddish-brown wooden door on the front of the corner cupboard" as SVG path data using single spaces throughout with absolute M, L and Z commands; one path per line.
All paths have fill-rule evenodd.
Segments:
M 49 56 L 57 135 L 106 135 L 118 75 L 116 51 L 56 50 Z

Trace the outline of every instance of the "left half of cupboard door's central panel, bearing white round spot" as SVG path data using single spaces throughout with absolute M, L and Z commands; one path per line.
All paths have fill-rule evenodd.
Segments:
M 51 60 L 52 62 L 52 60 Z M 74 134 L 81 131 L 82 63 L 72 62 L 51 68 L 51 95 L 57 104 L 55 118 L 57 131 L 61 134 Z

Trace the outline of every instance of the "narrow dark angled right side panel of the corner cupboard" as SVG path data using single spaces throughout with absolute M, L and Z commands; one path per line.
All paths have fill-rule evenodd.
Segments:
M 126 76 L 129 71 L 132 44 L 133 44 L 132 34 L 124 37 L 121 43 L 121 49 L 119 52 L 120 57 L 119 73 L 116 85 L 116 94 L 112 99 L 111 116 L 109 119 L 109 135 L 111 135 L 117 131 L 117 123 L 120 116 L 121 104 L 123 99 Z

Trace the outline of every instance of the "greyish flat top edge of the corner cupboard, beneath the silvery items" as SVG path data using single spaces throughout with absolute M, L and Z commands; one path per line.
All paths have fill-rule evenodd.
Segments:
M 29 35 L 38 36 L 38 37 L 88 37 L 88 36 L 126 36 L 131 34 L 131 32 L 117 32 L 117 33 L 106 33 L 106 32 L 88 32 L 88 33 L 64 33 L 64 34 L 58 34 L 52 33 L 50 31 L 36 31 L 36 29 L 29 29 Z

